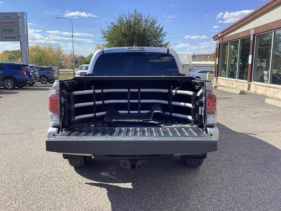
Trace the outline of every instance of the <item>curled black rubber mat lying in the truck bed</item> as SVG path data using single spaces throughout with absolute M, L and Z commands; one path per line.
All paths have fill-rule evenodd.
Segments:
M 151 106 L 150 112 L 143 114 L 121 114 L 112 106 L 109 106 L 104 118 L 105 122 L 128 124 L 130 123 L 163 123 L 165 114 L 160 105 Z

